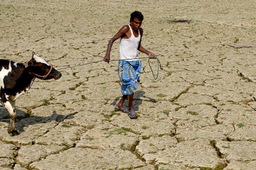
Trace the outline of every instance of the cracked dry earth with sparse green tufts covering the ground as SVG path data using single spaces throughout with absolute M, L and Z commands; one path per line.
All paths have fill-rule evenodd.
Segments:
M 256 47 L 232 47 L 255 45 L 255 1 L 2 0 L 0 58 L 25 62 L 34 51 L 57 69 L 101 60 L 92 54 L 105 55 L 134 10 L 142 46 L 163 66 L 154 80 L 142 59 L 142 85 L 155 93 L 135 92 L 139 118 L 114 112 L 113 64 L 37 79 L 16 100 L 19 135 L 0 108 L 1 170 L 256 169 Z M 118 50 L 116 41 L 112 59 Z

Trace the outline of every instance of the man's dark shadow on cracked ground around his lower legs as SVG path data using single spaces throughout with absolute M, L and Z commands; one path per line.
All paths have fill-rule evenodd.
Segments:
M 135 111 L 138 111 L 138 110 L 139 110 L 139 106 L 142 104 L 143 100 L 145 100 L 145 99 L 141 99 L 141 97 L 148 99 L 148 100 L 145 100 L 145 101 L 151 101 L 151 102 L 154 102 L 154 103 L 157 102 L 157 100 L 155 100 L 155 99 L 153 99 L 153 98 L 150 98 L 150 97 L 147 97 L 147 96 L 145 96 L 144 94 L 145 94 L 145 92 L 144 92 L 144 91 L 141 91 L 141 90 L 134 92 L 134 96 L 133 96 L 133 109 L 134 109 Z M 117 98 L 111 103 L 111 105 L 116 106 L 117 103 L 118 103 L 118 101 L 119 101 L 121 98 L 122 98 L 122 96 L 117 97 Z M 129 106 L 129 102 L 128 102 L 128 101 L 129 101 L 129 100 L 127 100 L 127 101 L 125 100 L 125 102 L 124 102 L 124 104 L 123 104 L 123 106 L 124 106 L 125 108 L 128 108 L 128 106 Z

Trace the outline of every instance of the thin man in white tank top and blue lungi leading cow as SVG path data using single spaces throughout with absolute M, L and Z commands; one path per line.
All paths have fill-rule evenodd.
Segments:
M 115 40 L 120 38 L 119 42 L 119 52 L 120 61 L 118 66 L 124 69 L 133 79 L 139 80 L 139 75 L 141 72 L 141 61 L 138 59 L 138 52 L 144 52 L 149 55 L 150 58 L 156 58 L 155 54 L 145 50 L 141 46 L 141 38 L 143 35 L 143 29 L 141 24 L 143 21 L 143 15 L 139 11 L 134 11 L 131 13 L 130 25 L 125 25 L 122 27 L 116 35 L 110 39 L 107 46 L 107 52 L 104 57 L 104 61 L 109 63 L 110 60 L 110 50 Z M 132 100 L 133 93 L 138 89 L 137 82 L 131 79 L 123 70 L 118 68 L 118 76 L 122 82 L 122 99 L 115 106 L 115 111 L 122 111 L 128 113 L 130 118 L 138 118 L 137 113 L 133 110 Z M 126 98 L 129 98 L 129 108 L 128 111 L 123 108 L 123 103 Z

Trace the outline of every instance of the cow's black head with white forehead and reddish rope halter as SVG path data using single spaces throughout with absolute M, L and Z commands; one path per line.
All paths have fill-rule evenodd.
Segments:
M 36 56 L 35 52 L 32 53 L 32 59 L 29 60 L 28 65 L 31 68 L 29 73 L 36 78 L 43 80 L 61 78 L 61 72 L 55 70 L 45 59 Z

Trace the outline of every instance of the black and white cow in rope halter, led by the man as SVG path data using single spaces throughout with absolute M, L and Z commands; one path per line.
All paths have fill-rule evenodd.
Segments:
M 15 127 L 14 110 L 17 97 L 31 88 L 35 78 L 57 80 L 60 77 L 61 72 L 55 70 L 45 59 L 36 56 L 35 52 L 32 52 L 31 60 L 25 63 L 0 59 L 0 102 L 10 114 L 8 133 L 19 133 Z

